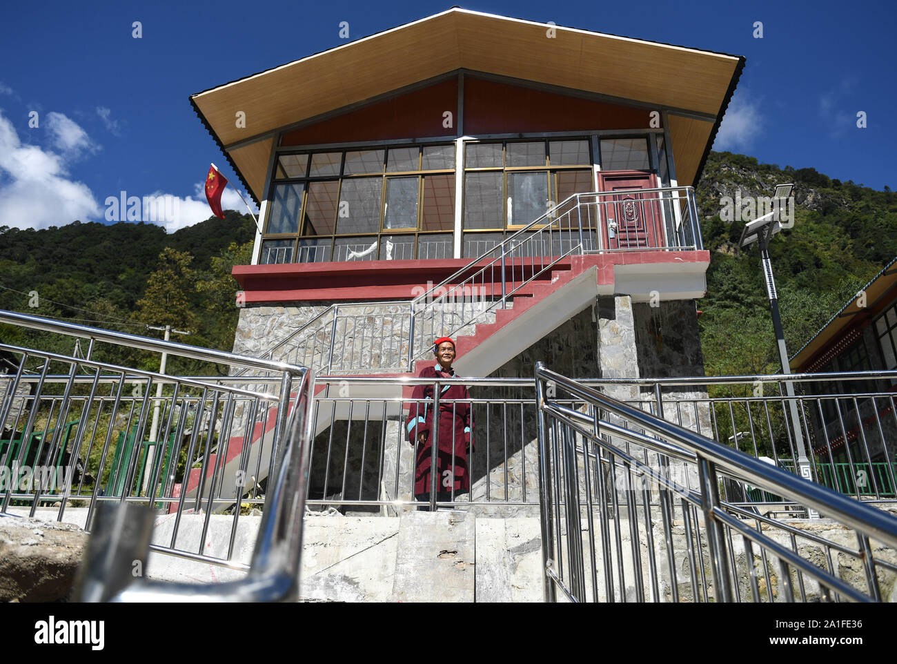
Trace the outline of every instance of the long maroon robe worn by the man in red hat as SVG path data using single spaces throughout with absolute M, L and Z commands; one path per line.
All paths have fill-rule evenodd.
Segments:
M 441 378 L 436 367 L 425 367 L 421 378 Z M 451 372 L 451 378 L 458 378 Z M 408 440 L 414 444 L 414 494 L 430 494 L 430 467 L 433 438 L 433 386 L 418 385 L 412 395 L 414 402 L 408 409 L 408 421 L 405 432 Z M 470 398 L 464 385 L 444 385 L 440 387 L 440 447 L 437 452 L 436 491 L 456 493 L 470 490 L 470 470 L 467 467 L 467 443 L 474 450 L 473 428 L 474 417 L 469 403 L 462 401 L 443 401 L 443 399 Z M 424 433 L 426 441 L 416 443 L 418 434 Z M 454 478 L 453 478 L 454 476 Z

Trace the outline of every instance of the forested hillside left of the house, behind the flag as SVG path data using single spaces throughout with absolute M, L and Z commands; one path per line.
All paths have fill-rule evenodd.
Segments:
M 227 211 L 167 234 L 152 223 L 69 223 L 42 231 L 0 226 L 0 309 L 138 335 L 147 325 L 189 331 L 182 343 L 230 350 L 238 310 L 231 267 L 248 263 L 255 224 Z M 0 339 L 70 354 L 71 339 L 0 326 Z M 158 369 L 130 348 L 97 359 Z M 173 359 L 170 371 L 209 371 Z

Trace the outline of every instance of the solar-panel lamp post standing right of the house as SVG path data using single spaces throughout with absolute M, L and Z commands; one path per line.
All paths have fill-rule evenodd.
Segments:
M 772 261 L 770 259 L 769 243 L 772 236 L 781 231 L 781 207 L 783 201 L 791 195 L 793 189 L 793 184 L 777 185 L 772 197 L 772 211 L 757 217 L 753 222 L 745 223 L 745 230 L 742 231 L 741 240 L 738 242 L 742 249 L 753 244 L 753 242 L 760 242 L 760 265 L 763 271 L 763 279 L 766 282 L 766 295 L 770 301 L 772 328 L 775 330 L 776 334 L 776 346 L 779 351 L 779 362 L 781 363 L 782 373 L 786 376 L 791 373 L 791 364 L 788 362 L 788 348 L 785 345 L 785 331 L 782 328 L 781 316 L 779 315 L 779 293 L 776 292 L 776 282 L 772 276 Z M 800 476 L 812 480 L 813 474 L 810 470 L 810 459 L 806 456 L 804 432 L 800 425 L 800 416 L 797 414 L 794 383 L 790 380 L 785 380 L 784 382 L 785 392 L 788 395 L 788 414 L 791 419 L 791 429 L 794 431 L 794 438 L 797 445 L 797 472 Z M 811 518 L 817 518 L 818 516 L 818 512 L 814 510 L 810 511 Z

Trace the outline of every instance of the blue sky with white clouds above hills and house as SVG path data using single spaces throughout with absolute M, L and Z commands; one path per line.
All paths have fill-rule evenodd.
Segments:
M 106 197 L 179 199 L 172 231 L 211 213 L 215 162 L 187 97 L 451 6 L 435 2 L 7 4 L 0 22 L 0 226 L 104 221 Z M 522 0 L 467 9 L 745 56 L 715 149 L 897 188 L 889 2 Z M 134 22 L 142 36 L 133 37 Z M 754 23 L 762 22 L 762 39 Z M 857 127 L 857 113 L 867 127 Z M 37 113 L 38 127 L 30 127 Z M 31 114 L 31 115 L 30 115 Z M 32 121 L 33 122 L 33 121 Z M 224 207 L 242 209 L 227 193 Z

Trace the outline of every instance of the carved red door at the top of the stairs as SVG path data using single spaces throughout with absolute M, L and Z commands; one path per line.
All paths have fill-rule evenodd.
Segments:
M 599 173 L 601 191 L 611 194 L 598 201 L 605 247 L 608 249 L 654 249 L 665 246 L 664 221 L 657 192 L 640 194 L 632 189 L 657 188 L 653 173 Z

